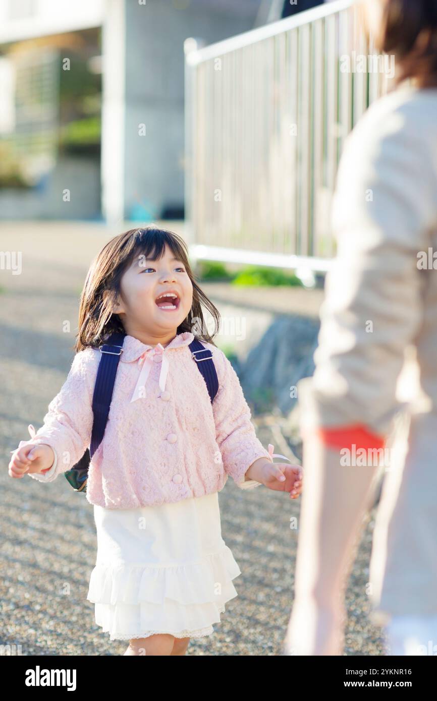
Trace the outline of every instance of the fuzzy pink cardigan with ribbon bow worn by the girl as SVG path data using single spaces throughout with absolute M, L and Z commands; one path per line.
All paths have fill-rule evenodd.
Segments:
M 188 348 L 194 335 L 177 334 L 164 348 L 125 336 L 105 435 L 90 463 L 86 498 L 109 509 L 171 503 L 220 491 L 230 475 L 257 486 L 245 473 L 257 458 L 272 459 L 255 435 L 238 376 L 220 348 L 213 353 L 219 390 L 210 402 Z M 67 379 L 48 404 L 44 425 L 25 443 L 50 445 L 52 467 L 28 473 L 53 482 L 90 444 L 91 403 L 100 351 L 76 353 Z M 32 427 L 33 428 L 33 427 Z M 32 433 L 31 433 L 32 435 Z M 67 482 L 66 482 L 67 486 Z

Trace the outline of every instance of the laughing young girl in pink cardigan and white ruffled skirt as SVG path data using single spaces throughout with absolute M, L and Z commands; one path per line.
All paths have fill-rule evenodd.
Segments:
M 9 465 L 11 477 L 52 482 L 79 461 L 90 444 L 99 346 L 125 334 L 86 485 L 98 536 L 87 599 L 111 640 L 129 640 L 125 655 L 183 655 L 237 596 L 241 571 L 222 538 L 217 496 L 229 475 L 291 498 L 302 489 L 300 466 L 274 464 L 274 447 L 257 440 L 238 376 L 204 330 L 201 302 L 218 324 L 182 238 L 154 226 L 112 238 L 88 271 L 67 380 Z M 213 403 L 188 347 L 194 338 L 213 355 Z

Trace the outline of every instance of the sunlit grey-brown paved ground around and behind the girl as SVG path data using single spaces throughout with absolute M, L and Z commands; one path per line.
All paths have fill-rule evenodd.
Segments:
M 22 251 L 20 275 L 0 271 L 0 644 L 20 644 L 23 655 L 121 655 L 126 649 L 95 625 L 93 604 L 86 601 L 96 552 L 93 510 L 86 498 L 62 476 L 44 485 L 26 477 L 11 479 L 7 472 L 9 451 L 27 440 L 29 423 L 41 426 L 48 402 L 65 381 L 86 269 L 113 233 L 119 232 L 81 223 L 0 226 L 0 251 Z M 214 297 L 214 285 L 208 285 L 219 308 L 224 295 L 227 304 L 231 301 L 225 288 L 217 286 Z M 248 304 L 255 298 L 269 304 L 265 289 L 238 290 L 238 304 L 244 294 Z M 276 292 L 274 304 L 290 310 L 307 306 L 314 314 L 320 299 L 319 291 L 287 290 Z M 63 331 L 65 322 L 70 332 Z M 282 453 L 272 433 L 278 418 L 254 421 L 262 443 L 272 442 Z M 215 634 L 192 641 L 189 654 L 278 655 L 295 570 L 297 537 L 290 517 L 299 514 L 300 503 L 263 487 L 243 492 L 229 479 L 220 492 L 220 508 L 224 540 L 242 571 L 234 580 L 238 597 L 227 604 Z M 379 629 L 365 615 L 374 515 L 374 510 L 368 515 L 347 594 L 347 655 L 383 653 Z

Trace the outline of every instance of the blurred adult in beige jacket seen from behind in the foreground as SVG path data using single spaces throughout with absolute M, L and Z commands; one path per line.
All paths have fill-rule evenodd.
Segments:
M 424 401 L 404 407 L 404 444 L 385 464 L 365 593 L 389 653 L 437 650 L 437 1 L 361 8 L 376 50 L 395 57 L 396 88 L 351 132 L 337 174 L 316 370 L 298 383 L 306 489 L 285 654 L 342 654 L 347 575 L 381 469 L 369 456 L 393 435 L 411 347 Z

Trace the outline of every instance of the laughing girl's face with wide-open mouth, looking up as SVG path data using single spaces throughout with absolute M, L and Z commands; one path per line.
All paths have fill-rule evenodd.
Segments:
M 144 343 L 170 340 L 187 318 L 193 301 L 193 285 L 180 260 L 166 245 L 159 260 L 139 254 L 121 277 L 121 300 L 114 313 L 119 314 L 126 333 Z M 157 298 L 168 292 L 177 297 Z M 173 336 L 172 336 L 173 334 Z M 158 339 L 158 341 L 154 341 Z

